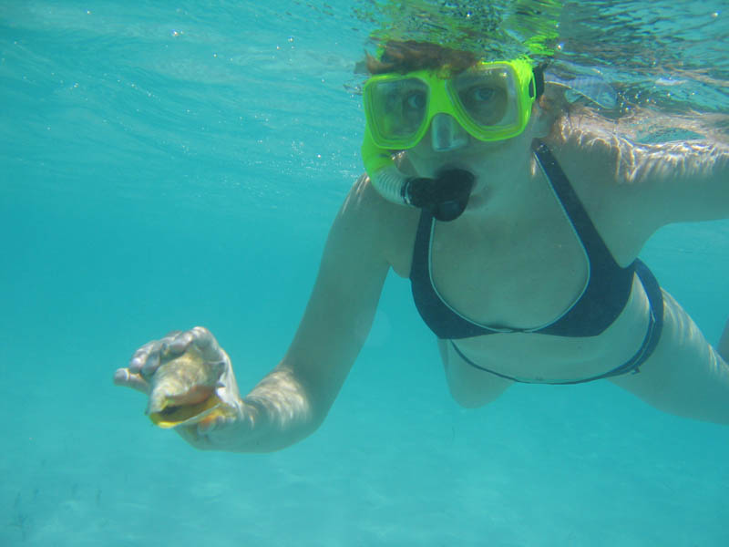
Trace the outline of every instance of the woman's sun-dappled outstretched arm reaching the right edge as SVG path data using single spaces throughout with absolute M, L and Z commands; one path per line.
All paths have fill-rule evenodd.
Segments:
M 649 112 L 629 119 L 581 114 L 555 124 L 549 145 L 568 175 L 580 176 L 575 184 L 581 191 L 616 207 L 621 217 L 641 215 L 654 231 L 729 215 L 729 146 L 702 123 Z M 638 130 L 703 137 L 641 143 Z

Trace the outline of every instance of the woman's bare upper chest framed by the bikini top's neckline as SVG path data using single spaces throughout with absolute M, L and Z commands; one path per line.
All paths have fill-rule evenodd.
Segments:
M 484 325 L 531 328 L 552 322 L 580 297 L 589 258 L 559 206 L 521 222 L 478 230 L 436 224 L 431 275 L 440 296 Z

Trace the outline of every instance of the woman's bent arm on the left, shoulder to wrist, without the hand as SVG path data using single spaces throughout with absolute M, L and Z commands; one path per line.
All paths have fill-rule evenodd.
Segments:
M 369 334 L 389 270 L 382 201 L 364 180 L 344 201 L 291 346 L 243 398 L 250 420 L 244 451 L 289 446 L 313 433 L 332 407 Z

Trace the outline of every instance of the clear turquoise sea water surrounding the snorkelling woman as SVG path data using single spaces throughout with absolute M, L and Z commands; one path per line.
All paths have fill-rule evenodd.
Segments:
M 625 112 L 727 112 L 722 3 L 608 4 L 603 32 L 608 5 L 566 6 L 563 55 L 601 65 Z M 729 544 L 729 428 L 601 382 L 458 408 L 394 276 L 329 418 L 290 449 L 195 451 L 111 385 L 192 325 L 242 390 L 282 357 L 362 170 L 376 6 L 0 3 L 0 545 Z M 727 243 L 727 222 L 683 224 L 642 253 L 714 342 Z

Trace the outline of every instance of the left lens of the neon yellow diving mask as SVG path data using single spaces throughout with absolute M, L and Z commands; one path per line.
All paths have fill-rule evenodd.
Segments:
M 415 77 L 373 82 L 369 121 L 385 140 L 413 139 L 426 121 L 428 87 Z

